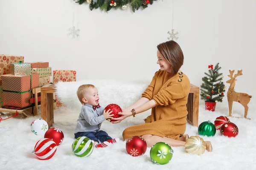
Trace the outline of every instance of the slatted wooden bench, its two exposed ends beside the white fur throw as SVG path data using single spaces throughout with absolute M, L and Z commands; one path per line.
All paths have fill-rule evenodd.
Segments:
M 41 117 L 48 126 L 54 122 L 54 94 L 55 85 L 49 84 L 41 87 Z M 198 126 L 199 87 L 192 85 L 187 103 L 187 121 L 193 126 Z

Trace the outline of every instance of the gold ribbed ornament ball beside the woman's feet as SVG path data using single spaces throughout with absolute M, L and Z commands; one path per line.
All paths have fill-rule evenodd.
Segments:
M 199 136 L 190 136 L 190 138 L 186 140 L 185 150 L 187 153 L 201 155 L 205 152 L 205 149 L 206 143 L 204 139 Z

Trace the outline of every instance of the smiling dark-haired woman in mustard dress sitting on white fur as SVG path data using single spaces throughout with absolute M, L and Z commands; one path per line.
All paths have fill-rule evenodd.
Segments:
M 119 123 L 128 116 L 134 116 L 152 108 L 151 116 L 146 123 L 126 128 L 123 139 L 142 136 L 151 147 L 157 142 L 166 142 L 171 146 L 184 146 L 188 135 L 186 130 L 186 104 L 190 90 L 188 77 L 180 67 L 183 65 L 183 52 L 175 41 L 167 41 L 157 45 L 157 64 L 160 70 L 154 77 L 141 99 L 123 110 L 122 116 L 113 118 Z M 212 145 L 206 141 L 207 150 Z

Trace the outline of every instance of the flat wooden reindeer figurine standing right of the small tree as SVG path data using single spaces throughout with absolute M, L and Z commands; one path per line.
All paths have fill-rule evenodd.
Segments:
M 228 75 L 228 77 L 230 77 L 229 80 L 227 80 L 226 83 L 230 83 L 230 88 L 227 91 L 227 101 L 228 101 L 228 108 L 229 108 L 229 115 L 232 115 L 232 106 L 233 106 L 233 102 L 239 102 L 241 103 L 241 105 L 244 106 L 244 118 L 247 119 L 247 112 L 248 112 L 248 106 L 247 104 L 250 102 L 250 98 L 252 96 L 246 94 L 246 93 L 237 93 L 236 91 L 234 91 L 234 87 L 236 85 L 236 77 L 243 75 L 242 71 L 243 70 L 239 70 L 237 71 L 237 74 L 235 74 L 235 76 L 233 77 L 233 73 L 235 70 L 230 72 L 230 75 Z

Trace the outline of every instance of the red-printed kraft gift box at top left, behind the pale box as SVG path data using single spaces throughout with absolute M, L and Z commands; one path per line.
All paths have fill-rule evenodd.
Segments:
M 10 74 L 10 63 L 15 63 L 19 61 L 24 62 L 24 57 L 0 54 L 0 75 Z

